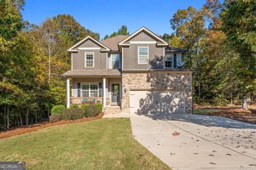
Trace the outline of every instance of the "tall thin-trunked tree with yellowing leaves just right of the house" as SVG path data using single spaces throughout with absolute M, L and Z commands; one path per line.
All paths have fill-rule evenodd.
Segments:
M 185 55 L 189 62 L 194 65 L 194 61 L 197 69 L 197 87 L 198 87 L 198 99 L 201 100 L 201 60 L 202 60 L 202 48 L 201 41 L 206 36 L 206 10 L 201 8 L 197 11 L 192 6 L 189 6 L 186 10 L 178 10 L 170 20 L 171 28 L 175 30 L 177 39 L 180 39 L 180 43 L 187 49 Z

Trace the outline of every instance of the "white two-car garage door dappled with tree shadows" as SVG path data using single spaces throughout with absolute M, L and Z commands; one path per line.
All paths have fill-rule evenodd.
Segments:
M 130 113 L 185 112 L 185 90 L 130 91 Z

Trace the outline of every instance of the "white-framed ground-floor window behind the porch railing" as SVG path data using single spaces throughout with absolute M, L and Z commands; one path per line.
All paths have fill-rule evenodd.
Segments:
M 99 83 L 81 83 L 82 97 L 99 97 Z

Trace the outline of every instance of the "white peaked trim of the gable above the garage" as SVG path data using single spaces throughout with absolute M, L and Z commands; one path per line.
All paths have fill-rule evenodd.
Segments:
M 166 43 L 165 40 L 163 40 L 162 38 L 160 38 L 159 36 L 157 36 L 154 32 L 150 31 L 149 29 L 147 29 L 146 27 L 141 27 L 139 30 L 135 31 L 134 33 L 132 33 L 132 35 L 130 35 L 129 37 L 125 38 L 124 40 L 122 40 L 118 45 L 127 45 L 127 41 L 129 41 L 130 39 L 132 39 L 133 37 L 137 36 L 139 33 L 141 33 L 142 31 L 147 32 L 149 35 L 153 36 L 154 38 L 156 38 L 157 40 L 159 40 L 159 42 L 161 42 L 161 44 L 159 45 L 164 45 L 167 46 L 168 43 Z M 163 43 L 163 44 L 162 44 Z

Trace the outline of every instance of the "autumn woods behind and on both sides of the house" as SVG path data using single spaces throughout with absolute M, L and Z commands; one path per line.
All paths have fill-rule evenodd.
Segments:
M 174 33 L 160 36 L 185 48 L 185 67 L 197 69 L 195 103 L 246 108 L 256 95 L 256 1 L 221 2 L 178 10 L 170 19 Z M 0 1 L 0 130 L 47 120 L 54 105 L 65 105 L 67 49 L 87 35 L 100 40 L 68 14 L 30 24 L 20 13 L 24 4 Z M 129 35 L 127 27 L 104 39 L 117 35 Z

